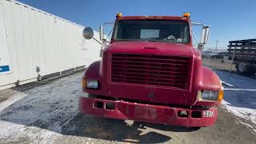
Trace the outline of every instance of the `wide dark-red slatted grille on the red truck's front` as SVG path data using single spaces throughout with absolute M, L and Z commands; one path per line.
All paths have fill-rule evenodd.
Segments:
M 111 82 L 170 86 L 188 89 L 191 58 L 150 55 L 112 54 Z

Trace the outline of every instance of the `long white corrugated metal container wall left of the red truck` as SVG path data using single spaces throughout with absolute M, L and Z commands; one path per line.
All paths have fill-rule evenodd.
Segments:
M 82 38 L 83 26 L 15 1 L 0 0 L 0 13 L 11 69 L 10 74 L 0 74 L 0 89 L 99 59 L 101 45 Z M 98 39 L 97 32 L 94 37 Z

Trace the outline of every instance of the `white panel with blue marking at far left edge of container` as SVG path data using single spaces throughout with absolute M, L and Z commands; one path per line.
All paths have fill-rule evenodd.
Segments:
M 0 5 L 0 74 L 10 73 L 10 53 L 6 38 L 5 19 Z

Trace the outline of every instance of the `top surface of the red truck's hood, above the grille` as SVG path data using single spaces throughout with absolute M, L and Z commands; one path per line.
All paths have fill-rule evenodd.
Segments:
M 167 42 L 114 42 L 106 50 L 110 53 L 161 54 L 192 57 L 193 49 L 180 43 Z

